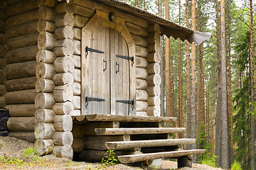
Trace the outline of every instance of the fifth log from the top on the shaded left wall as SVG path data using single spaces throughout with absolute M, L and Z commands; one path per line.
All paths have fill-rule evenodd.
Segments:
M 36 53 L 38 52 L 38 46 L 32 45 L 28 47 L 18 48 L 16 50 L 9 50 L 6 52 L 4 59 L 7 64 L 28 62 L 36 60 Z

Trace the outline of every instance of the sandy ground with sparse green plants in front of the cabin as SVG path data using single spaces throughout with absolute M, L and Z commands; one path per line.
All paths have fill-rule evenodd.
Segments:
M 44 157 L 33 155 L 33 144 L 14 137 L 0 136 L 0 169 L 107 169 L 107 170 L 142 170 L 139 167 L 127 166 L 124 164 L 114 164 L 109 166 L 102 163 L 73 162 L 68 159 L 55 157 L 53 154 Z M 177 163 L 164 160 L 162 166 L 152 166 L 149 169 L 177 169 Z M 221 170 L 203 164 L 193 164 L 193 168 L 188 169 L 209 169 Z

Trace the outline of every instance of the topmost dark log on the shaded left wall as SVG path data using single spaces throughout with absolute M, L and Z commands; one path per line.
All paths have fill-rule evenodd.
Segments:
M 38 8 L 37 1 L 27 0 L 20 1 L 17 4 L 13 4 L 7 8 L 8 16 L 15 16 L 20 13 L 26 13 L 27 11 L 32 11 L 33 9 Z

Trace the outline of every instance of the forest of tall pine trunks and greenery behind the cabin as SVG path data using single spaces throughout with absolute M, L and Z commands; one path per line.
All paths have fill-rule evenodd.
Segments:
M 207 149 L 196 162 L 255 169 L 256 1 L 122 1 L 213 35 L 195 56 L 186 41 L 161 38 L 161 115 L 177 117 L 183 137 L 196 137 L 191 148 Z

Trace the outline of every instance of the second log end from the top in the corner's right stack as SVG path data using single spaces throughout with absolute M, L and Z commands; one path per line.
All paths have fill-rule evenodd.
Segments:
M 59 14 L 55 18 L 55 25 L 56 27 L 63 27 L 63 26 L 74 26 L 74 16 L 72 13 L 63 13 Z

